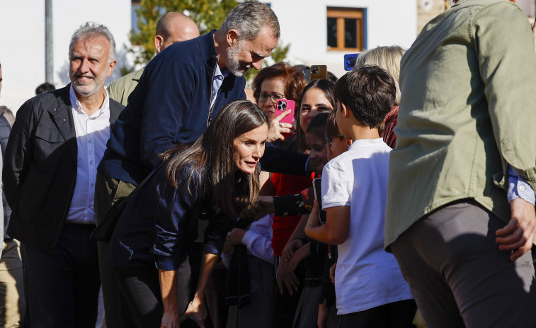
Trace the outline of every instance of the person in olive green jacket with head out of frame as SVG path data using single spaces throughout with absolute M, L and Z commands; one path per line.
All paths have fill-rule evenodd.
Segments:
M 427 327 L 536 327 L 536 55 L 527 16 L 460 0 L 401 60 L 385 247 Z

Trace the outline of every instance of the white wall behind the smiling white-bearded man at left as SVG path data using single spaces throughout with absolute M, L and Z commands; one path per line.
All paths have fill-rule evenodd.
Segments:
M 108 83 L 119 77 L 130 45 L 130 0 L 52 0 L 54 84 L 69 83 L 69 41 L 86 21 L 108 26 L 115 38 L 118 66 Z M 45 1 L 0 0 L 0 105 L 15 112 L 45 82 Z

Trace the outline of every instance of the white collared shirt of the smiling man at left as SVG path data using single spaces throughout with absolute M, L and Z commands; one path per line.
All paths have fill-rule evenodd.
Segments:
M 103 106 L 88 116 L 82 111 L 82 105 L 74 89 L 69 91 L 71 100 L 74 130 L 76 130 L 76 185 L 74 186 L 71 207 L 67 221 L 73 223 L 95 224 L 95 180 L 97 166 L 106 150 L 106 142 L 110 139 L 110 98 L 106 91 Z

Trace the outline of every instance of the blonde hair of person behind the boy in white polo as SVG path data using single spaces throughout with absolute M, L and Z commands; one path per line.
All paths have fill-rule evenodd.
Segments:
M 359 54 L 353 70 L 358 69 L 363 65 L 377 65 L 380 68 L 385 69 L 394 79 L 394 85 L 397 87 L 397 97 L 395 98 L 394 103 L 398 105 L 400 103 L 400 87 L 398 83 L 400 60 L 405 52 L 406 50 L 399 45 L 375 47 L 373 49 L 365 50 Z

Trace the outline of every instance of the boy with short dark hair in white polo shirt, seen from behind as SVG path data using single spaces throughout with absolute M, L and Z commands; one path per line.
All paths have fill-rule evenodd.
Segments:
M 338 244 L 335 273 L 341 327 L 413 327 L 416 305 L 397 260 L 383 249 L 389 152 L 378 128 L 395 98 L 392 77 L 360 67 L 335 84 L 337 123 L 353 143 L 322 172 L 321 225 L 317 203 L 307 236 Z

